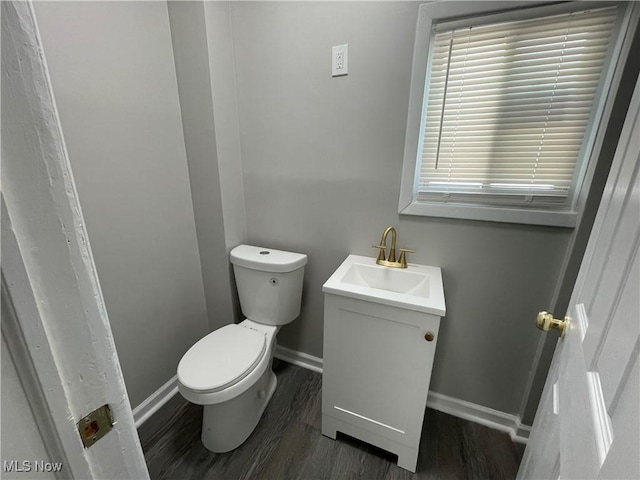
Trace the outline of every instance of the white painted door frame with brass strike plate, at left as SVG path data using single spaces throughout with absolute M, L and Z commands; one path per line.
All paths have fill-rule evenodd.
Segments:
M 2 478 L 148 479 L 33 6 L 0 7 L 3 399 L 27 403 L 2 405 Z

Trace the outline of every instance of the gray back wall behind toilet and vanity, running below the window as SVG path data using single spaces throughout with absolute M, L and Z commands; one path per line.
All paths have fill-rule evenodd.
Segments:
M 321 287 L 387 225 L 444 273 L 432 390 L 518 414 L 571 231 L 400 217 L 418 3 L 232 4 L 248 240 L 309 255 L 300 318 L 278 341 L 322 356 Z M 331 77 L 331 46 L 349 75 Z M 225 68 L 223 65 L 220 68 Z

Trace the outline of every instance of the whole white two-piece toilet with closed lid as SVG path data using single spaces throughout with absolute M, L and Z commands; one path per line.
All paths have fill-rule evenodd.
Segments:
M 276 334 L 300 314 L 307 264 L 304 254 L 251 245 L 230 256 L 246 320 L 200 339 L 178 364 L 178 390 L 204 406 L 202 443 L 217 453 L 249 438 L 271 400 Z

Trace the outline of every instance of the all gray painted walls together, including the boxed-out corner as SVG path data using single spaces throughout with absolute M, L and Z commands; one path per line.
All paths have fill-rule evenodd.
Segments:
M 533 318 L 551 307 L 572 233 L 398 215 L 417 10 L 36 5 L 134 406 L 233 307 L 239 318 L 230 248 L 309 255 L 302 314 L 278 341 L 322 357 L 322 284 L 349 253 L 375 255 L 395 225 L 417 250 L 410 261 L 444 272 L 432 389 L 521 412 Z M 332 78 L 331 47 L 343 43 L 350 74 Z

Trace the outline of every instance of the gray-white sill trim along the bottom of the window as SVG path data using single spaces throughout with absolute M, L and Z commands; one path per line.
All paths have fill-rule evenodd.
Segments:
M 401 215 L 459 218 L 487 222 L 521 223 L 548 227 L 573 228 L 578 214 L 575 211 L 549 211 L 528 208 L 507 208 L 484 205 L 460 205 L 412 202 L 400 208 Z

